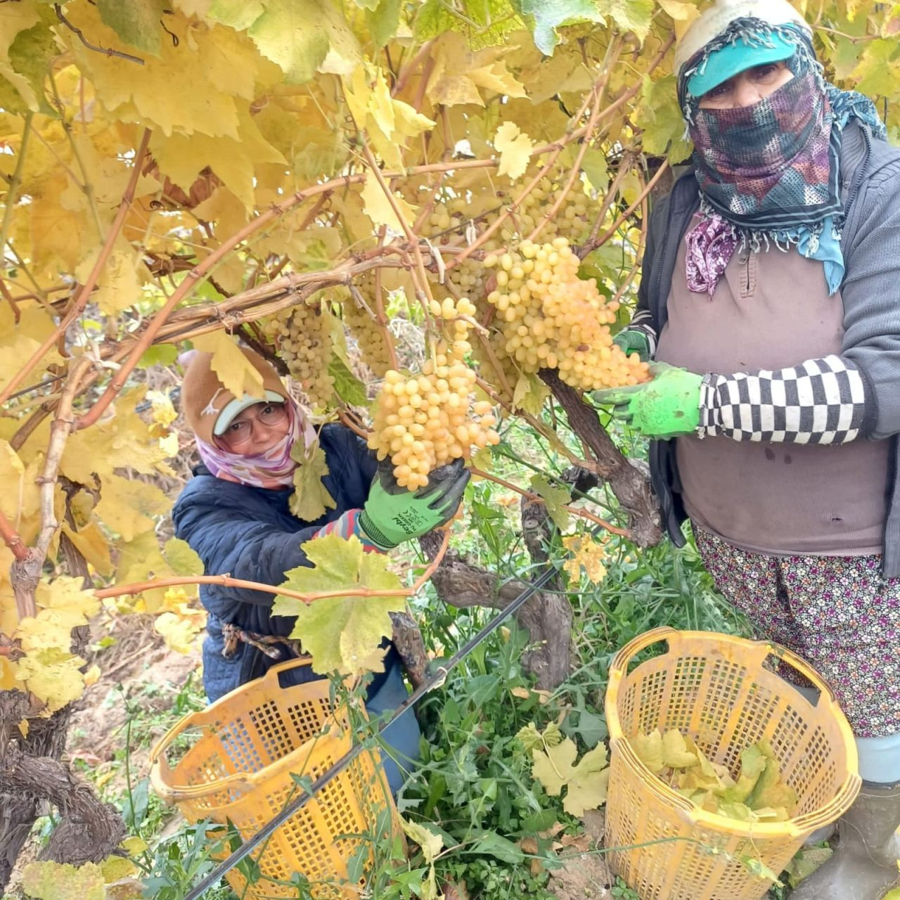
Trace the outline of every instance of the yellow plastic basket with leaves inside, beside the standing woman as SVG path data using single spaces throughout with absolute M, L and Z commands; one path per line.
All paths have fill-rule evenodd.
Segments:
M 638 653 L 661 641 L 668 653 L 628 671 Z M 779 661 L 821 691 L 815 706 L 771 670 Z M 806 836 L 846 812 L 860 791 L 856 745 L 831 690 L 777 644 L 672 628 L 647 632 L 613 660 L 606 713 L 606 842 L 612 868 L 641 900 L 760 900 L 770 881 L 753 873 L 754 864 L 778 875 Z M 630 738 L 654 728 L 689 734 L 734 775 L 741 752 L 768 741 L 797 792 L 797 815 L 752 824 L 694 806 L 632 749 Z

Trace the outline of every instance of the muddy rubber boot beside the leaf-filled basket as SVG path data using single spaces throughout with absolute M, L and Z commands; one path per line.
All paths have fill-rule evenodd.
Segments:
M 790 900 L 879 900 L 897 878 L 900 782 L 864 781 L 860 796 L 838 820 L 830 860 L 800 882 Z

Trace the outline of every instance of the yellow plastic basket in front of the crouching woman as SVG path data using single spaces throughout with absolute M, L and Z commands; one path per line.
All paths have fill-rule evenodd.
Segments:
M 292 660 L 274 666 L 264 678 L 185 716 L 150 753 L 157 794 L 175 803 L 192 824 L 230 823 L 243 840 L 253 837 L 299 796 L 292 774 L 317 779 L 353 743 L 346 708 L 335 709 L 329 701 L 328 680 L 280 686 L 279 673 L 308 664 Z M 169 757 L 185 743 L 189 749 L 172 765 Z M 262 878 L 255 884 L 247 886 L 247 878 L 231 870 L 227 878 L 238 896 L 296 897 L 296 887 L 277 882 L 301 873 L 314 897 L 358 900 L 365 872 L 349 883 L 347 862 L 358 858 L 361 841 L 371 848 L 378 828 L 391 832 L 396 817 L 378 755 L 360 753 L 272 835 L 257 859 Z M 223 847 L 216 856 L 228 852 Z M 365 871 L 372 859 L 370 849 Z

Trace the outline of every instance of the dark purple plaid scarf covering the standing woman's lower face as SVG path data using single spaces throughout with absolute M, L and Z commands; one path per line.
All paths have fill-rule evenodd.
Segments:
M 700 192 L 743 229 L 821 222 L 841 209 L 832 121 L 812 72 L 751 106 L 698 109 L 689 132 Z

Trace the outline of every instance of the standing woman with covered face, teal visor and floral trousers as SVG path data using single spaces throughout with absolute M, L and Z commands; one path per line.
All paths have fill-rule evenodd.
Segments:
M 862 792 L 792 900 L 877 900 L 900 825 L 900 152 L 824 81 L 785 0 L 717 0 L 676 50 L 693 167 L 653 211 L 618 341 L 652 383 L 596 392 L 654 440 L 672 540 L 831 683 Z

